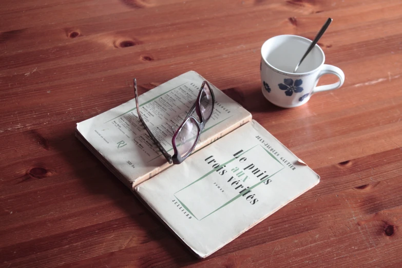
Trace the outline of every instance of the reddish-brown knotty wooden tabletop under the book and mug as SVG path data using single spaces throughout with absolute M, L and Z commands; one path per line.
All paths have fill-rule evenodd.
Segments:
M 401 14 L 400 0 L 3 0 L 0 266 L 400 267 Z M 344 85 L 273 106 L 261 45 L 313 39 L 327 17 L 319 44 Z M 205 260 L 74 137 L 76 122 L 133 98 L 133 77 L 143 93 L 188 70 L 321 176 Z

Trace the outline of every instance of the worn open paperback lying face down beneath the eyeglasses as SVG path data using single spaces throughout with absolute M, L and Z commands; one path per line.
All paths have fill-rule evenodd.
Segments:
M 182 122 L 204 80 L 190 71 L 140 95 L 144 120 L 168 152 L 171 126 Z M 193 155 L 179 165 L 170 167 L 154 145 L 138 119 L 135 100 L 76 129 L 93 154 L 201 258 L 319 182 L 249 112 L 211 87 L 213 115 Z

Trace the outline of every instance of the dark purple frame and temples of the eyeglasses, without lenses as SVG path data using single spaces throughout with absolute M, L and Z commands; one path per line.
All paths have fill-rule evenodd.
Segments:
M 148 128 L 147 124 L 142 119 L 141 112 L 140 112 L 140 105 L 138 104 L 137 79 L 134 78 L 133 82 L 134 82 L 134 93 L 135 93 L 135 98 L 136 98 L 136 106 L 137 106 L 138 118 L 140 119 L 143 127 L 148 132 L 148 135 L 151 137 L 152 141 L 154 141 L 154 143 L 158 146 L 159 150 L 162 152 L 163 156 L 166 158 L 166 160 L 167 160 L 167 162 L 169 162 L 169 164 L 171 164 L 171 163 L 173 163 L 173 164 L 182 163 L 194 151 L 195 147 L 197 146 L 198 140 L 200 139 L 201 132 L 204 129 L 205 123 L 212 116 L 212 113 L 213 113 L 213 110 L 214 110 L 214 104 L 215 104 L 214 91 L 209 86 L 208 82 L 206 82 L 205 80 L 202 82 L 201 90 L 198 93 L 198 97 L 197 97 L 195 103 L 193 104 L 192 108 L 190 108 L 190 110 L 187 113 L 187 116 L 184 118 L 183 122 L 180 124 L 180 126 L 177 128 L 177 130 L 173 134 L 173 137 L 171 138 L 171 144 L 173 146 L 174 155 L 170 156 L 170 154 L 165 150 L 165 148 L 163 148 L 162 144 L 158 141 L 158 139 L 154 136 L 154 134 L 152 134 L 151 130 Z M 204 116 L 202 115 L 201 104 L 200 104 L 201 94 L 202 94 L 202 92 L 204 90 L 205 85 L 208 87 L 208 89 L 209 89 L 209 91 L 211 93 L 211 96 L 212 96 L 212 111 L 211 111 L 211 114 L 209 115 L 209 117 L 207 119 L 204 119 Z M 192 116 L 192 114 L 194 113 L 194 110 L 196 111 L 197 116 L 199 117 L 199 119 L 201 119 L 200 120 L 201 122 L 198 122 L 198 120 L 194 116 Z M 179 135 L 181 129 L 184 126 L 184 124 L 187 122 L 187 120 L 191 120 L 191 119 L 193 119 L 196 122 L 196 126 L 198 128 L 197 138 L 196 138 L 195 143 L 193 144 L 193 147 L 187 152 L 187 154 L 184 157 L 182 157 L 179 154 L 178 150 L 177 150 L 176 138 Z

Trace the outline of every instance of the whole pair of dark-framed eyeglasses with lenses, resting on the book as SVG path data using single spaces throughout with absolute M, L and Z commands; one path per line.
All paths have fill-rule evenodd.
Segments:
M 170 156 L 168 154 L 168 152 L 163 148 L 163 146 L 160 144 L 154 134 L 152 134 L 151 130 L 142 119 L 140 106 L 138 105 L 137 79 L 134 79 L 134 91 L 136 97 L 138 118 L 148 132 L 149 136 L 158 146 L 159 150 L 165 156 L 169 164 L 171 164 L 172 162 L 174 164 L 180 164 L 190 155 L 190 153 L 196 147 L 201 132 L 204 129 L 205 123 L 209 120 L 212 115 L 212 111 L 214 110 L 215 95 L 210 88 L 208 82 L 202 82 L 201 90 L 198 93 L 196 102 L 193 104 L 192 108 L 190 108 L 187 116 L 184 118 L 178 129 L 175 131 L 174 127 L 171 127 L 172 132 L 174 132 L 173 138 L 171 139 L 171 144 L 175 152 L 173 156 Z M 194 117 L 194 112 L 197 113 L 199 120 Z

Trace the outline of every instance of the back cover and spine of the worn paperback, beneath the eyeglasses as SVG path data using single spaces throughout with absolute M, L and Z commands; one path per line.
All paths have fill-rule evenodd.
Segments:
M 140 112 L 154 136 L 173 155 L 171 139 L 195 103 L 205 79 L 190 71 L 139 96 Z M 210 85 L 214 111 L 196 150 L 251 120 L 251 114 Z M 134 92 L 133 92 L 134 94 Z M 127 185 L 148 179 L 169 166 L 138 119 L 135 99 L 77 124 L 79 138 Z M 87 145 L 89 147 L 89 145 Z

